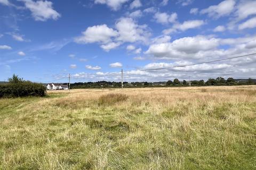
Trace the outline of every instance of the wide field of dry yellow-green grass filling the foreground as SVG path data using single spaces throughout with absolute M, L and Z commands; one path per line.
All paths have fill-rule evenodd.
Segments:
M 0 169 L 256 169 L 256 86 L 0 99 Z

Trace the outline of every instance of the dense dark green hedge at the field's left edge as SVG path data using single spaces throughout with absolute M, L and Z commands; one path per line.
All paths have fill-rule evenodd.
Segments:
M 18 83 L 0 84 L 0 97 L 42 97 L 45 95 L 46 87 L 39 83 L 21 81 Z

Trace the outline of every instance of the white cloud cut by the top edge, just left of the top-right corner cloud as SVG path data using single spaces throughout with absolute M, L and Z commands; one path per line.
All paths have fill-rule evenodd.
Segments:
M 222 1 L 218 5 L 213 5 L 201 10 L 201 14 L 208 14 L 212 18 L 220 18 L 221 16 L 227 16 L 233 12 L 236 2 L 234 0 Z

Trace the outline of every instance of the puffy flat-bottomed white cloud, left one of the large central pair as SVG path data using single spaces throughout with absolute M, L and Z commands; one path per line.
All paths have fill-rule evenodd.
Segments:
M 106 24 L 88 27 L 82 36 L 76 37 L 75 42 L 83 43 L 109 43 L 112 37 L 118 36 L 118 32 L 112 28 L 108 28 Z

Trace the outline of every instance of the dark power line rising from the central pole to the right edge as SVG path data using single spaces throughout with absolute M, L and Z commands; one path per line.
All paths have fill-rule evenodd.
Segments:
M 164 68 L 158 68 L 158 69 L 133 70 L 133 71 L 154 71 L 154 70 L 174 69 L 174 68 L 178 68 L 178 67 L 186 67 L 186 66 L 192 66 L 192 65 L 207 64 L 207 63 L 213 63 L 213 62 L 231 60 L 231 59 L 234 59 L 234 58 L 247 57 L 247 56 L 251 56 L 251 55 L 255 55 L 255 54 L 256 54 L 256 53 L 252 53 L 252 54 L 246 54 L 246 55 L 241 55 L 241 56 L 223 58 L 223 59 L 220 59 L 220 60 L 214 60 L 214 61 L 202 62 L 202 63 L 195 63 L 195 64 L 188 64 L 188 65 L 179 65 L 179 66 L 164 67 Z M 125 72 L 130 72 L 130 71 L 125 71 Z

